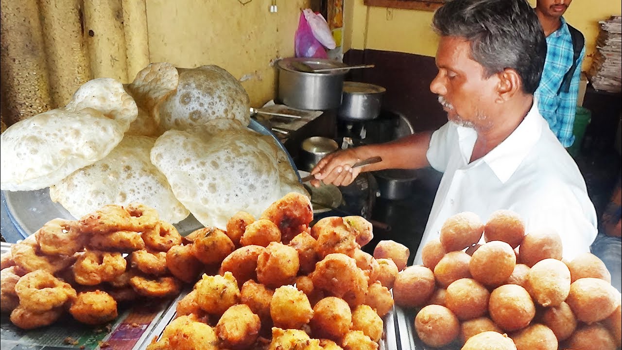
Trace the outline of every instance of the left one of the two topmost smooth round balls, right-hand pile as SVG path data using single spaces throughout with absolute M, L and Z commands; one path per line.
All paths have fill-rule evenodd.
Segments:
M 480 241 L 484 224 L 479 215 L 461 212 L 449 217 L 440 228 L 440 242 L 447 252 L 463 250 Z

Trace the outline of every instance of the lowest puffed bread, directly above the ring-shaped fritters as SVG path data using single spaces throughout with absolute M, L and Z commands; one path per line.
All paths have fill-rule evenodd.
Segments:
M 147 136 L 125 136 L 106 157 L 50 186 L 50 198 L 73 217 L 107 204 L 140 202 L 156 209 L 162 220 L 180 222 L 190 212 L 177 201 L 164 174 L 151 164 L 154 143 Z

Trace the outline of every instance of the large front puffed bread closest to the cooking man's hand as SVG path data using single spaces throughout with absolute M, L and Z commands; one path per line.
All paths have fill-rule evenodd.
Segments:
M 221 120 L 169 130 L 151 150 L 151 162 L 183 206 L 204 226 L 223 230 L 240 210 L 259 217 L 287 193 L 305 194 L 302 184 L 281 171 L 283 157 L 271 136 Z

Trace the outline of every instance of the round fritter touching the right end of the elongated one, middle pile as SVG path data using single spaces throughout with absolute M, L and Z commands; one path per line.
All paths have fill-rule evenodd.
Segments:
M 298 252 L 279 242 L 271 242 L 257 258 L 257 279 L 277 288 L 291 283 L 300 268 Z

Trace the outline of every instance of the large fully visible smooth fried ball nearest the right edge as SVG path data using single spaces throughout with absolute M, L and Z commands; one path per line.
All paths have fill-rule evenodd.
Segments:
M 579 278 L 570 285 L 566 303 L 579 321 L 593 323 L 607 318 L 620 305 L 619 293 L 600 278 Z

